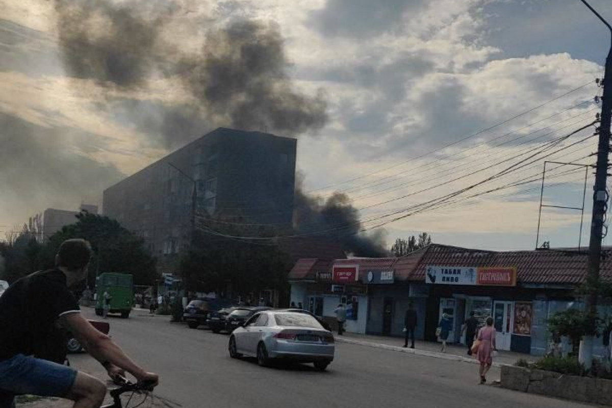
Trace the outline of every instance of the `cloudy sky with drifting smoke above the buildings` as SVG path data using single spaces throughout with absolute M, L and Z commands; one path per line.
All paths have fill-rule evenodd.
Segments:
M 591 4 L 612 20 L 612 2 Z M 2 232 L 48 207 L 101 204 L 105 188 L 218 126 L 296 137 L 304 191 L 345 193 L 364 234 L 389 246 L 426 231 L 532 249 L 543 161 L 594 163 L 594 127 L 558 140 L 600 111 L 610 45 L 578 0 L 0 9 Z M 582 207 L 584 168 L 547 169 L 543 204 Z M 542 209 L 540 243 L 573 247 L 579 230 L 580 211 Z

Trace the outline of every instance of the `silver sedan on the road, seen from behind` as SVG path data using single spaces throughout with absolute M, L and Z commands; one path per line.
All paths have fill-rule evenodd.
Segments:
M 304 313 L 263 311 L 230 336 L 230 356 L 257 358 L 260 366 L 272 359 L 313 363 L 323 371 L 334 360 L 334 336 Z

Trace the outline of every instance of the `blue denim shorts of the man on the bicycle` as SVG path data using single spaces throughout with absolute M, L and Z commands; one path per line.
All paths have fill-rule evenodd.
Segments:
M 69 366 L 17 354 L 0 361 L 0 408 L 11 407 L 17 394 L 65 397 L 75 379 Z

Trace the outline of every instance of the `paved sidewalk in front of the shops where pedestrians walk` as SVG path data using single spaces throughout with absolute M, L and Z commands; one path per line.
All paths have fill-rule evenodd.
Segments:
M 446 353 L 441 353 L 441 344 L 432 341 L 416 341 L 414 349 L 405 349 L 402 347 L 404 345 L 404 339 L 399 337 L 359 335 L 356 333 L 345 332 L 342 336 L 338 336 L 337 333 L 334 333 L 334 338 L 338 343 L 357 344 L 359 346 L 375 347 L 377 349 L 385 349 L 408 354 L 425 355 L 427 357 L 444 358 L 446 360 L 465 363 L 478 363 L 476 358 L 470 357 L 467 354 L 467 348 L 466 346 L 463 346 L 463 344 L 460 346 L 449 344 L 446 348 Z M 501 367 L 502 365 L 513 365 L 519 358 L 524 358 L 527 361 L 535 360 L 535 356 L 530 354 L 500 351 L 499 355 L 493 362 L 493 366 Z

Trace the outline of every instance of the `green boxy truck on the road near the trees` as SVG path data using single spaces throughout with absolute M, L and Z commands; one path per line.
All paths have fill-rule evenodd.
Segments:
M 134 284 L 132 275 L 125 273 L 101 273 L 97 278 L 95 297 L 95 314 L 103 315 L 104 292 L 111 295 L 110 310 L 108 313 L 121 313 L 127 319 L 132 311 L 134 299 Z

